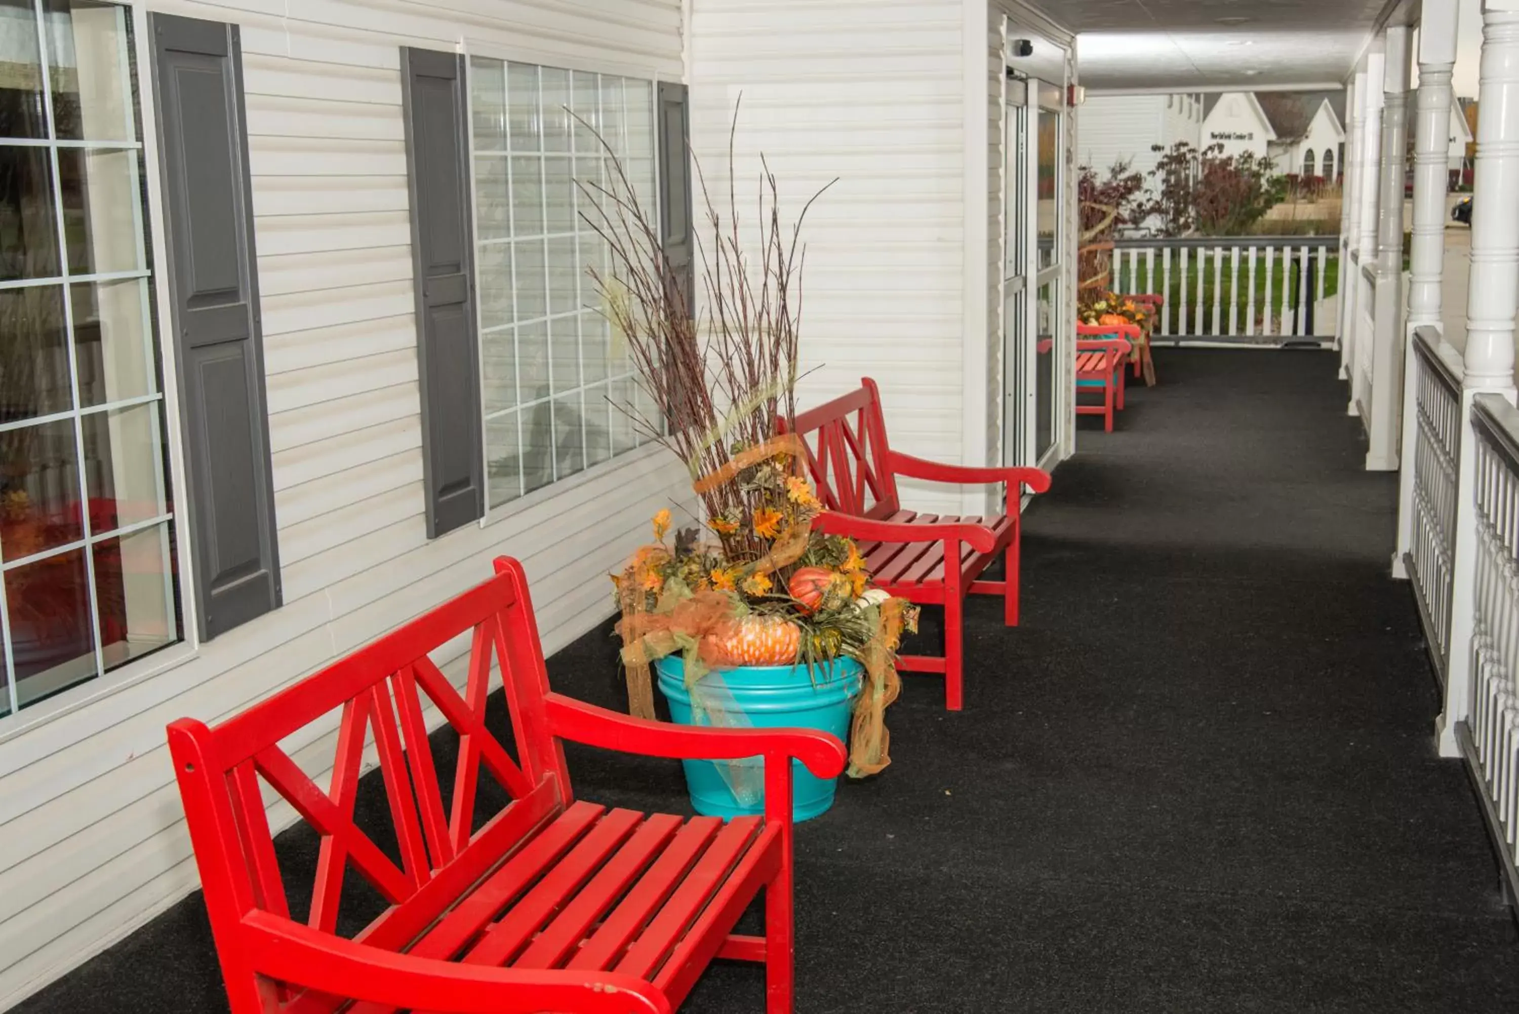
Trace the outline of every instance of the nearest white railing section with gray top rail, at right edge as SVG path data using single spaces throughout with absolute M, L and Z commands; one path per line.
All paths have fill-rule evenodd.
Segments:
M 1519 883 L 1519 410 L 1476 395 L 1470 699 L 1458 731 L 1510 883 Z

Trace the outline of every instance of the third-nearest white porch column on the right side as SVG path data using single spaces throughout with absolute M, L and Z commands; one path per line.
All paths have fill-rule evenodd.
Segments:
M 1404 173 L 1408 164 L 1408 26 L 1387 29 L 1382 146 L 1372 307 L 1372 403 L 1366 420 L 1369 471 L 1396 471 L 1404 392 Z

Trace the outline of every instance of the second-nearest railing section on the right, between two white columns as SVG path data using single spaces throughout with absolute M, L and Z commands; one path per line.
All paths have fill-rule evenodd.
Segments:
M 1414 333 L 1414 455 L 1413 538 L 1405 566 L 1413 582 L 1419 617 L 1429 640 L 1429 657 L 1445 683 L 1451 657 L 1451 579 L 1455 555 L 1457 462 L 1461 453 L 1460 362 L 1440 353 L 1431 328 Z

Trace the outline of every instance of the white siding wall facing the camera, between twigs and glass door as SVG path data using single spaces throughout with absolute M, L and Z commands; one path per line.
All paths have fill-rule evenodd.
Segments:
M 977 24 L 984 24 L 984 2 Z M 807 219 L 799 404 L 881 385 L 892 444 L 963 453 L 966 319 L 965 74 L 958 3 L 691 0 L 691 147 L 726 214 L 728 135 L 743 94 L 741 195 L 760 154 Z M 978 202 L 977 202 L 978 204 Z M 711 246 L 700 184 L 699 240 Z M 753 201 L 740 198 L 753 230 Z M 904 500 L 960 512 L 958 491 Z

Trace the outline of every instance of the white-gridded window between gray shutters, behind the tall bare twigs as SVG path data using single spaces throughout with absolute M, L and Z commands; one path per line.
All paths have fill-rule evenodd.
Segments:
M 486 480 L 497 506 L 647 442 L 621 406 L 658 418 L 602 315 L 589 269 L 605 275 L 611 257 L 582 217 L 576 185 L 609 187 L 611 147 L 653 216 L 655 105 L 649 81 L 485 58 L 471 59 L 469 100 Z

